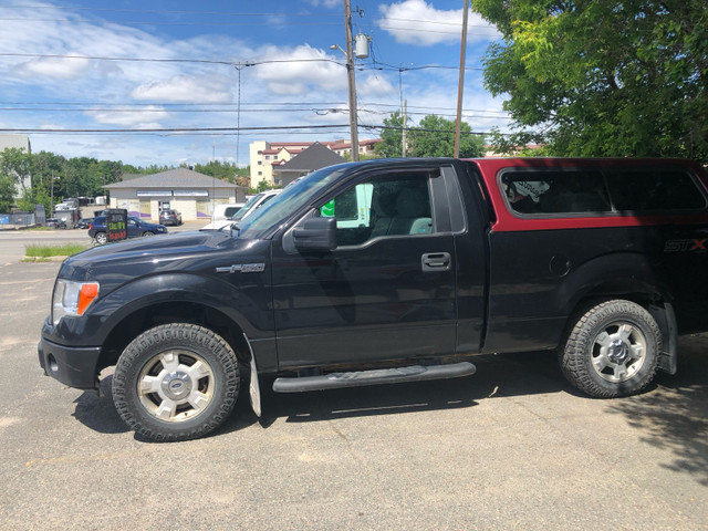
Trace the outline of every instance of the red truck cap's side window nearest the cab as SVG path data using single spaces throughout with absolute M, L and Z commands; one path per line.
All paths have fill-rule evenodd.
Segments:
M 612 211 L 600 171 L 508 171 L 501 186 L 511 209 L 521 215 Z

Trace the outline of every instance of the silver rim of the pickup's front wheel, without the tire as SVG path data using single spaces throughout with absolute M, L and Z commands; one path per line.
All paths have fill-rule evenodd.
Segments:
M 194 352 L 170 350 L 150 358 L 137 381 L 140 404 L 156 418 L 181 423 L 201 414 L 214 399 L 214 371 Z

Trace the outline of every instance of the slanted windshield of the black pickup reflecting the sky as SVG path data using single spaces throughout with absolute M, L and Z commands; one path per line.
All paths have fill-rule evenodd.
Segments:
M 323 168 L 296 185 L 287 187 L 274 199 L 239 223 L 239 237 L 258 239 L 268 230 L 280 227 L 292 214 L 308 205 L 320 190 L 336 180 L 347 169 L 348 166 Z

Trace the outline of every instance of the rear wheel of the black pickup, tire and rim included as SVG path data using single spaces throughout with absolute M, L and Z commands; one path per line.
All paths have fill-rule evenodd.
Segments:
M 596 398 L 639 393 L 656 374 L 662 333 L 641 305 L 624 300 L 597 304 L 575 322 L 560 352 L 568 381 Z

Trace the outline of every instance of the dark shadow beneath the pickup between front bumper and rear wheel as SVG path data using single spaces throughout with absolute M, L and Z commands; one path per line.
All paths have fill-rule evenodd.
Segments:
M 458 409 L 476 406 L 489 397 L 574 393 L 561 376 L 554 353 L 479 356 L 472 358 L 472 363 L 477 365 L 477 374 L 464 378 L 296 394 L 273 393 L 273 377 L 262 376 L 263 415 L 260 419 L 251 409 L 248 383 L 242 382 L 235 412 L 212 436 L 238 431 L 254 424 L 268 428 L 280 418 L 288 423 L 308 423 Z M 128 431 L 114 407 L 112 382 L 112 374 L 101 381 L 103 396 L 86 392 L 75 400 L 76 420 L 102 434 Z

